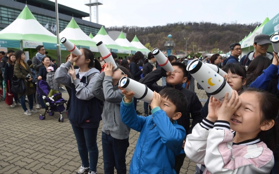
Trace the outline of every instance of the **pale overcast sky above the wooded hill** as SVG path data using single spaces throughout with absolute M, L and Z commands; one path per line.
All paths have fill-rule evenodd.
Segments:
M 50 0 L 53 1 L 54 0 Z M 89 0 L 87 0 L 89 1 Z M 174 22 L 252 23 L 279 13 L 278 0 L 102 0 L 99 24 L 155 26 Z M 59 4 L 89 13 L 83 0 L 58 0 Z M 92 14 L 93 14 L 92 8 Z M 93 16 L 93 15 L 92 15 Z M 89 21 L 89 17 L 84 18 Z M 92 17 L 92 22 L 96 19 Z

